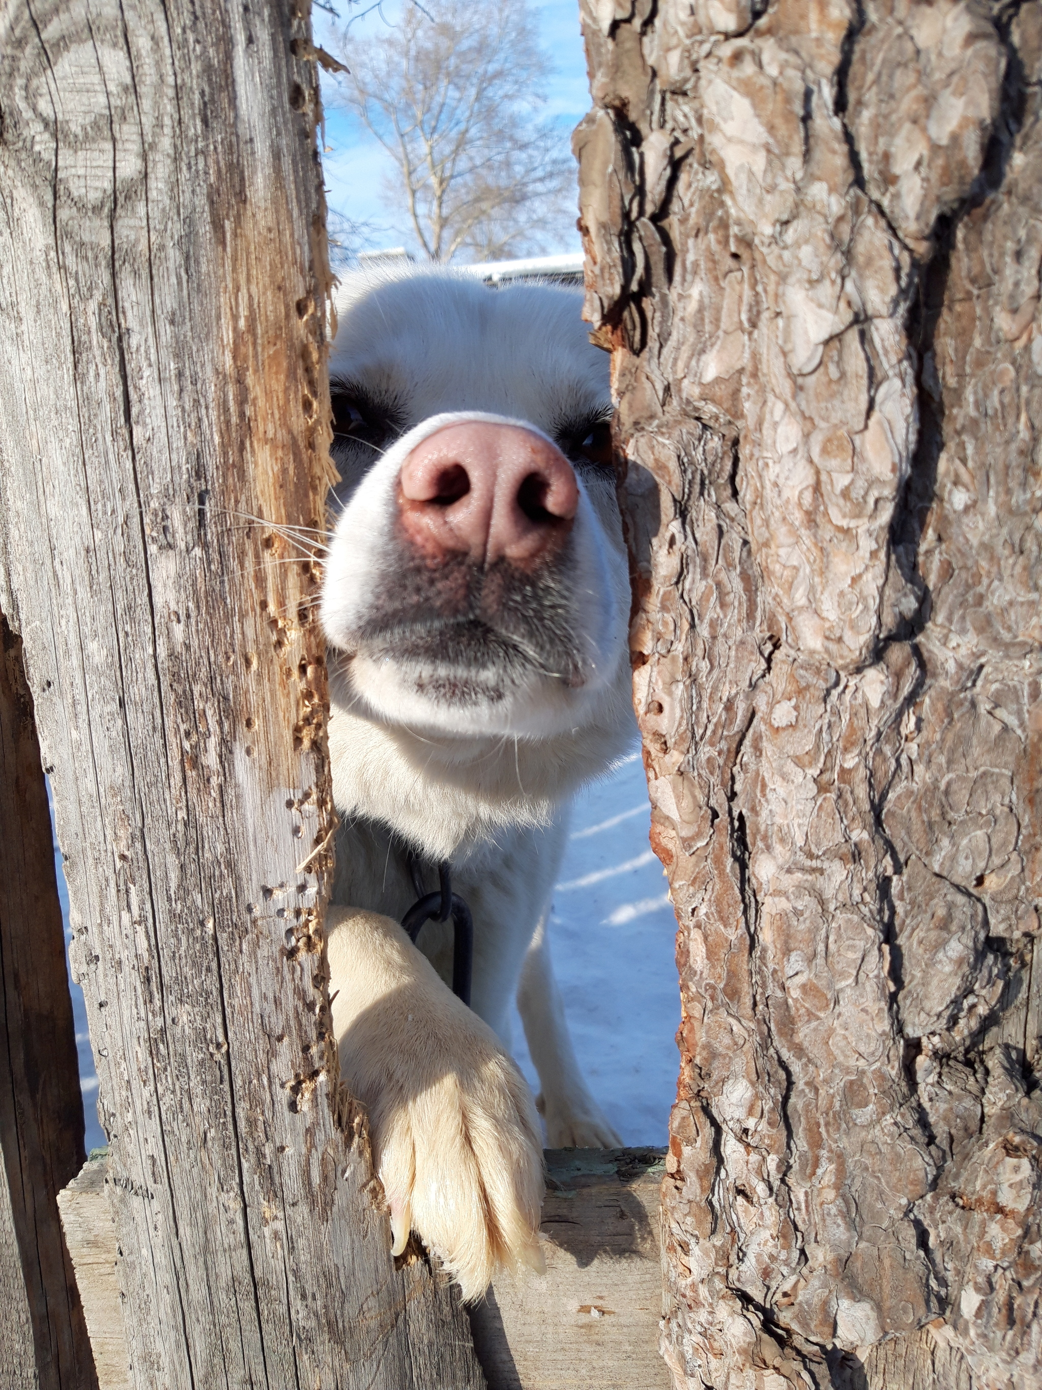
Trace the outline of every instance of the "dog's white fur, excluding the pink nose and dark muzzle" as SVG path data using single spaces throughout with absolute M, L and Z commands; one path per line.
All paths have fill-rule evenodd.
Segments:
M 539 1261 L 542 1145 L 506 1051 L 514 997 L 550 1145 L 618 1143 L 575 1061 L 546 940 L 568 798 L 632 738 L 629 588 L 610 475 L 577 468 L 568 678 L 538 659 L 504 674 L 489 657 L 468 667 L 467 698 L 454 701 L 445 663 L 399 659 L 365 624 L 395 582 L 397 477 L 417 443 L 463 420 L 553 439 L 561 421 L 610 409 L 607 360 L 579 306 L 574 292 L 490 291 L 447 271 L 356 277 L 338 304 L 331 360 L 335 392 L 346 384 L 392 403 L 400 431 L 383 450 L 343 441 L 335 450 L 343 510 L 322 598 L 343 819 L 329 912 L 333 1024 L 345 1079 L 368 1108 L 395 1250 L 415 1229 L 467 1298 L 496 1265 Z M 421 949 L 397 926 L 415 897 L 408 845 L 452 860 L 453 888 L 471 906 L 471 1009 L 445 983 L 452 924 L 425 926 Z

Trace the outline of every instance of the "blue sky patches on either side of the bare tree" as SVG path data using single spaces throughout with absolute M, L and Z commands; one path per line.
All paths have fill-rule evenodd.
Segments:
M 481 0 L 475 0 L 481 3 Z M 586 85 L 586 58 L 579 33 L 579 7 L 577 0 L 529 0 L 539 19 L 539 38 L 554 65 L 549 86 L 547 114 L 561 132 L 567 147 L 572 129 L 589 110 L 589 88 Z M 342 19 L 363 4 L 347 4 L 332 0 Z M 368 36 L 378 32 L 386 22 L 395 21 L 400 0 L 386 0 L 379 11 L 374 11 L 352 25 L 350 33 Z M 331 26 L 333 21 L 321 10 L 313 10 L 315 39 L 332 49 Z M 322 100 L 325 106 L 325 143 L 322 156 L 325 171 L 326 200 L 329 207 L 354 221 L 371 222 L 374 232 L 371 245 L 410 245 L 408 225 L 383 195 L 383 177 L 393 170 L 389 156 L 378 142 L 352 117 L 336 106 L 336 79 L 322 74 Z M 552 252 L 578 252 L 579 235 L 568 227 L 561 228 L 561 240 L 549 246 Z

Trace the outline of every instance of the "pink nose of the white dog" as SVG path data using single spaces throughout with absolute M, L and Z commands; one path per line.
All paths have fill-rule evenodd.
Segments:
M 571 530 L 578 505 L 561 450 L 520 425 L 447 425 L 399 475 L 408 537 L 428 553 L 463 550 L 481 564 L 538 559 Z

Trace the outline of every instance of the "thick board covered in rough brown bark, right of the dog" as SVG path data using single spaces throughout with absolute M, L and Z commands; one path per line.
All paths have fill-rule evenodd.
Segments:
M 1042 4 L 582 0 L 677 1386 L 1042 1380 Z

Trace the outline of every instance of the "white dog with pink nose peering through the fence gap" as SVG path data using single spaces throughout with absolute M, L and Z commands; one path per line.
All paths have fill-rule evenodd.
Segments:
M 333 1023 L 395 1252 L 417 1230 L 467 1298 L 500 1264 L 540 1264 L 514 997 L 550 1145 L 618 1144 L 546 941 L 568 799 L 632 739 L 607 359 L 579 307 L 443 270 L 356 277 L 331 360 Z M 399 926 L 442 862 L 474 916 L 472 1009 L 447 984 L 452 923 L 418 949 Z

